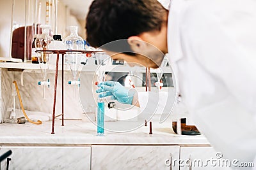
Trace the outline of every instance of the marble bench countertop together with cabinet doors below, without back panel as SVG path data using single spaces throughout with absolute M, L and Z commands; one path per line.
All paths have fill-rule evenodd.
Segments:
M 105 131 L 105 136 L 96 136 L 96 129 L 92 122 L 81 120 L 65 120 L 64 126 L 56 120 L 55 134 L 51 121 L 0 124 L 0 153 L 12 150 L 9 164 L 17 169 L 189 169 L 168 160 L 216 155 L 203 135 L 177 135 L 170 122 L 152 122 L 152 135 L 148 125 L 131 132 Z M 3 161 L 1 167 L 6 164 Z

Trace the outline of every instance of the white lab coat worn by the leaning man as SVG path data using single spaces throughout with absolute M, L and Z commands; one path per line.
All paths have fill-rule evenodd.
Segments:
M 168 18 L 177 93 L 211 145 L 239 162 L 256 156 L 255 9 L 253 0 L 172 0 Z

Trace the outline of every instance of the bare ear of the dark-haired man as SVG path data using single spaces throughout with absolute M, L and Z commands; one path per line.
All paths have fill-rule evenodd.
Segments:
M 147 48 L 147 42 L 143 41 L 139 36 L 131 36 L 127 39 L 133 52 L 141 53 Z

